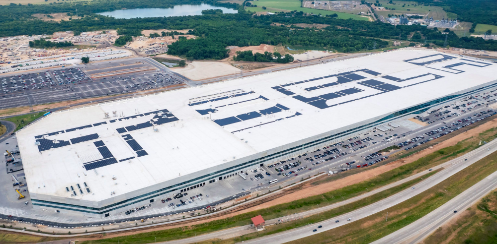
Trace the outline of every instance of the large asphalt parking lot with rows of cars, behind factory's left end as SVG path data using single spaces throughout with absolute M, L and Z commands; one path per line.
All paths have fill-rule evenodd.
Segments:
M 147 59 L 128 59 L 0 76 L 0 109 L 187 86 L 159 67 Z

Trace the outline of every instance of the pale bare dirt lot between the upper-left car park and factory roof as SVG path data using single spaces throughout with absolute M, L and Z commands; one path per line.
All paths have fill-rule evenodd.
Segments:
M 174 72 L 178 72 L 192 80 L 203 80 L 221 75 L 240 73 L 240 69 L 233 67 L 225 62 L 216 61 L 193 61 L 189 62 L 184 68 L 172 68 Z

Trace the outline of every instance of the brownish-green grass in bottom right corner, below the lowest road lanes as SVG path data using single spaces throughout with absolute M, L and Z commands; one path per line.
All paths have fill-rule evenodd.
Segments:
M 438 228 L 424 244 L 497 243 L 497 190 L 464 211 L 455 221 Z M 493 241 L 493 242 L 492 242 Z

